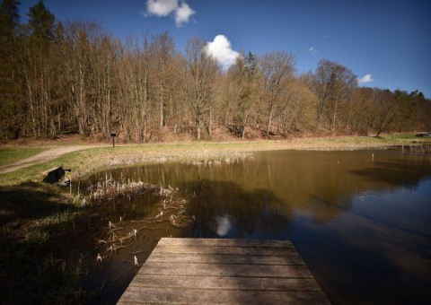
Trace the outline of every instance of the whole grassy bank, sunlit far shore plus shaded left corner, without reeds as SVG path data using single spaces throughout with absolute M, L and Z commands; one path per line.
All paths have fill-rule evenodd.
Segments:
M 291 141 L 232 143 L 142 144 L 112 148 L 94 147 L 67 153 L 53 161 L 0 175 L 0 293 L 6 303 L 83 303 L 92 295 L 81 288 L 85 269 L 66 264 L 64 254 L 74 248 L 75 224 L 82 222 L 91 207 L 69 188 L 41 182 L 44 170 L 70 168 L 73 183 L 98 170 L 167 161 L 227 160 L 244 153 L 271 150 L 356 150 L 384 149 L 393 145 L 431 144 L 431 139 L 414 135 L 374 137 L 305 138 Z M 47 147 L 40 148 L 41 150 Z M 15 155 L 4 164 L 22 159 L 20 147 L 1 150 Z M 2 152 L 3 151 L 3 152 Z M 22 151 L 22 152 L 21 152 Z M 80 200 L 81 199 L 81 200 Z

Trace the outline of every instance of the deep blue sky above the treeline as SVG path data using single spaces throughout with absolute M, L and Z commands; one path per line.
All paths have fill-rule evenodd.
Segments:
M 22 0 L 22 22 L 38 0 Z M 431 98 L 431 1 L 45 0 L 57 20 L 100 22 L 113 36 L 167 30 L 179 51 L 187 39 L 213 42 L 224 65 L 244 51 L 294 54 L 298 74 L 319 60 L 346 65 L 361 85 L 419 90 Z M 218 39 L 216 39 L 217 35 Z M 215 40 L 216 39 L 216 40 Z M 229 44 L 230 43 L 230 44 Z

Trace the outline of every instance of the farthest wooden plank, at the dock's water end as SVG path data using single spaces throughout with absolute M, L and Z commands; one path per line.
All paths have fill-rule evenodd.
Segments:
M 245 248 L 294 248 L 290 240 L 224 240 L 224 239 L 175 239 L 163 238 L 161 246 L 223 246 Z

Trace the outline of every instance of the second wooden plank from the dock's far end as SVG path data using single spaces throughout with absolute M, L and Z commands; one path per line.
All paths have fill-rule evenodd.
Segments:
M 157 245 L 153 253 L 183 253 L 183 254 L 229 254 L 229 255 L 258 255 L 258 256 L 298 256 L 295 248 L 245 248 L 223 246 L 169 246 Z

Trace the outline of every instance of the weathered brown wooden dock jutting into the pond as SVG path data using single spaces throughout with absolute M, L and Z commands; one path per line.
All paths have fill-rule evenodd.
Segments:
M 290 241 L 163 238 L 119 304 L 329 304 Z

